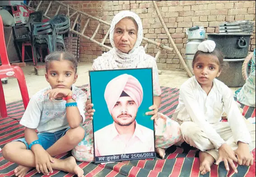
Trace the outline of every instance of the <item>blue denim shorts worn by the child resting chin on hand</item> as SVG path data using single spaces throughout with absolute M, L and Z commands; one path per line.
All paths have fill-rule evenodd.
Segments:
M 63 137 L 65 135 L 65 133 L 70 129 L 66 128 L 63 130 L 59 130 L 55 133 L 48 133 L 48 132 L 43 132 L 43 133 L 38 133 L 37 137 L 38 137 L 38 141 L 40 142 L 41 146 L 47 150 L 49 147 L 51 147 L 54 143 L 56 143 L 61 137 Z M 27 149 L 29 149 L 29 145 L 26 142 L 25 138 L 19 138 L 17 140 L 14 141 L 19 141 L 19 142 L 23 142 Z

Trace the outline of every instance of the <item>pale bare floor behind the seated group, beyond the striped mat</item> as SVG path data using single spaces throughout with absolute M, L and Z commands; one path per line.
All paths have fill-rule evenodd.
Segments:
M 80 62 L 78 65 L 78 80 L 74 85 L 84 85 L 89 82 L 88 71 L 91 69 L 92 63 Z M 49 84 L 45 79 L 44 75 L 36 75 L 33 67 L 33 63 L 26 63 L 25 67 L 22 67 L 25 74 L 25 78 L 28 86 L 29 97 L 37 93 L 42 88 L 47 87 Z M 189 77 L 185 71 L 166 71 L 163 70 L 162 74 L 159 75 L 160 85 L 180 88 L 183 82 L 185 82 Z M 19 85 L 15 78 L 9 78 L 8 84 L 3 84 L 5 93 L 5 102 L 15 102 L 21 100 L 21 94 L 19 91 Z M 235 91 L 237 88 L 231 88 Z

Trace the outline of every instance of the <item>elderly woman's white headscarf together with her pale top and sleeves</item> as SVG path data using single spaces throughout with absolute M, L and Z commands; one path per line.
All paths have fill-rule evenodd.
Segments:
M 135 19 L 138 25 L 137 40 L 133 49 L 129 53 L 123 53 L 115 47 L 113 36 L 118 23 L 122 18 L 132 17 Z M 112 44 L 112 49 L 102 56 L 99 56 L 93 61 L 92 69 L 97 70 L 113 70 L 113 69 L 133 69 L 133 68 L 153 68 L 153 93 L 154 96 L 161 95 L 162 91 L 159 84 L 158 78 L 158 67 L 155 58 L 151 55 L 145 53 L 144 47 L 141 46 L 143 39 L 143 28 L 140 17 L 130 11 L 121 11 L 117 13 L 112 20 L 109 32 L 110 43 Z M 90 86 L 88 86 L 88 98 L 90 99 Z

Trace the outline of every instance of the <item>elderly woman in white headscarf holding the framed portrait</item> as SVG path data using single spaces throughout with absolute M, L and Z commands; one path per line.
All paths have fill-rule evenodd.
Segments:
M 93 70 L 131 69 L 131 68 L 153 68 L 153 93 L 154 105 L 149 107 L 146 115 L 152 115 L 155 121 L 155 144 L 157 153 L 161 158 L 165 156 L 165 148 L 181 140 L 180 127 L 177 122 L 167 116 L 158 113 L 161 104 L 161 88 L 158 79 L 158 68 L 154 57 L 148 55 L 141 46 L 143 28 L 140 17 L 130 11 L 121 11 L 113 18 L 110 33 L 112 49 L 93 62 Z M 88 101 L 86 111 L 93 116 L 93 104 L 90 99 L 90 88 L 88 88 Z M 160 118 L 160 119 L 158 119 Z M 85 125 L 86 137 L 83 142 L 74 148 L 72 154 L 79 161 L 93 161 L 93 131 L 92 123 Z M 86 153 L 85 153 L 86 152 Z

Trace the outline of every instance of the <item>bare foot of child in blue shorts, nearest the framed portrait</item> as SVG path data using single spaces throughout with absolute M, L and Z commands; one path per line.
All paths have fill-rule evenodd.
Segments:
M 84 177 L 84 170 L 76 164 L 73 156 L 65 159 L 65 171 L 69 173 L 74 173 L 78 177 Z

